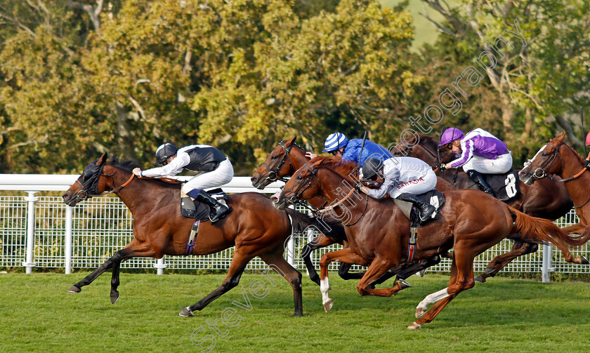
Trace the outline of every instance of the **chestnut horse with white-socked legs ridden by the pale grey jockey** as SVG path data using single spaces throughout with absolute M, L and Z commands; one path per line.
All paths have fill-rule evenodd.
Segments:
M 337 201 L 335 208 L 351 215 L 345 224 L 349 248 L 327 253 L 320 260 L 320 291 L 326 312 L 332 309 L 329 298 L 328 265 L 334 260 L 369 266 L 357 284 L 360 295 L 389 297 L 401 286 L 370 288 L 388 269 L 408 260 L 409 220 L 391 199 L 372 199 L 361 194 L 362 199 L 341 198 L 341 185 L 354 185 L 356 166 L 345 161 L 316 157 L 294 173 L 284 189 L 273 195 L 277 208 L 289 203 L 321 195 L 329 202 Z M 542 241 L 551 241 L 563 251 L 568 261 L 579 264 L 588 261 L 574 258 L 568 245 L 579 245 L 549 220 L 533 218 L 480 190 L 461 189 L 447 191 L 440 218 L 418 229 L 415 260 L 443 255 L 452 248 L 451 277 L 447 288 L 426 296 L 416 308 L 416 317 L 409 329 L 420 328 L 436 315 L 461 291 L 475 286 L 473 259 L 510 234 L 520 232 Z M 353 222 L 354 221 L 354 222 Z M 431 309 L 427 306 L 434 304 Z

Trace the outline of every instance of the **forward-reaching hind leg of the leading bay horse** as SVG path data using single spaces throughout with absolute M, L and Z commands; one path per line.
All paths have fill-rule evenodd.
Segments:
M 219 286 L 215 291 L 209 293 L 209 295 L 207 295 L 202 300 L 199 300 L 199 302 L 191 305 L 190 307 L 185 307 L 185 309 L 183 309 L 183 311 L 178 314 L 181 317 L 192 317 L 192 313 L 195 312 L 195 310 L 202 310 L 204 307 L 209 305 L 210 302 L 221 297 L 223 293 L 237 286 L 237 284 L 240 283 L 240 277 L 242 277 L 244 268 L 246 268 L 248 262 L 254 258 L 254 255 L 250 255 L 251 253 L 254 253 L 254 249 L 248 247 L 236 248 L 232 258 L 232 263 L 230 264 L 230 269 L 228 270 L 228 276 L 225 277 L 221 286 Z

